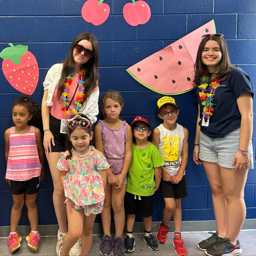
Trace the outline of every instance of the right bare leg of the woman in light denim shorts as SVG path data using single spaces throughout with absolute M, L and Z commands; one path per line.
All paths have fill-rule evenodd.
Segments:
M 245 221 L 246 208 L 244 188 L 248 170 L 234 172 L 231 168 L 221 167 L 223 192 L 227 202 L 227 228 L 225 237 L 236 243 Z

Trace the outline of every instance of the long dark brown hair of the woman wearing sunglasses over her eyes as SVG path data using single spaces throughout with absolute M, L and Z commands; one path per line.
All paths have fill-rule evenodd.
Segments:
M 82 40 L 87 40 L 93 45 L 94 55 L 84 64 L 81 65 L 81 69 L 85 70 L 85 75 L 83 80 L 85 81 L 84 87 L 84 96 L 83 96 L 83 107 L 85 107 L 87 99 L 91 95 L 93 89 L 98 86 L 99 83 L 99 73 L 98 73 L 98 62 L 99 62 L 99 47 L 98 39 L 89 32 L 83 32 L 78 35 L 72 42 L 67 57 L 63 63 L 63 68 L 61 71 L 61 78 L 59 80 L 59 86 L 57 91 L 57 99 L 60 102 L 61 95 L 65 89 L 64 83 L 67 80 L 67 76 L 72 73 L 75 69 L 75 61 L 73 58 L 73 51 L 76 43 L 79 43 Z

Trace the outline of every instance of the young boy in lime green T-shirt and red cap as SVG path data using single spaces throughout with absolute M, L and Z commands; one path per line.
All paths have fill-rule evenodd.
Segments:
M 128 171 L 124 209 L 127 214 L 127 234 L 124 246 L 128 252 L 134 251 L 135 240 L 132 229 L 137 210 L 145 225 L 143 241 L 151 250 L 159 250 L 155 237 L 151 234 L 153 196 L 161 180 L 161 166 L 165 164 L 158 149 L 148 141 L 150 124 L 143 117 L 135 117 L 131 124 L 134 136 L 132 162 Z

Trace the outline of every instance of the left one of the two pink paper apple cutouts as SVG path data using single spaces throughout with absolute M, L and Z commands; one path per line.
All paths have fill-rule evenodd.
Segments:
M 103 3 L 104 0 L 87 0 L 82 7 L 82 17 L 85 21 L 95 26 L 102 24 L 108 19 L 110 7 Z

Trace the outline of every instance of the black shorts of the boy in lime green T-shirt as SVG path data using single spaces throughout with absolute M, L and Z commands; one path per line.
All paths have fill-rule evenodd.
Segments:
M 139 200 L 139 196 L 136 195 L 136 199 L 134 199 L 135 195 L 129 192 L 125 192 L 124 196 L 124 210 L 126 214 L 136 214 L 137 210 L 141 213 L 142 217 L 150 217 L 153 214 L 153 197 L 141 196 L 141 200 Z

